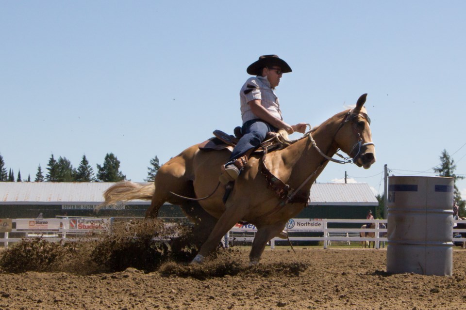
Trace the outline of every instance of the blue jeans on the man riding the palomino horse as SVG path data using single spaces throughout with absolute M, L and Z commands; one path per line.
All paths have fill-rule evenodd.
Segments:
M 228 162 L 232 162 L 243 156 L 250 149 L 255 149 L 261 145 L 266 138 L 267 132 L 277 132 L 278 129 L 262 121 L 261 119 L 253 119 L 243 124 L 241 128 L 243 137 L 238 141 L 238 144 L 233 149 L 232 155 Z

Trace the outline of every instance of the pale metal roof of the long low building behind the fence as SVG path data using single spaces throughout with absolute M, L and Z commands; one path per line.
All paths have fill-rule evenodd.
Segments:
M 115 183 L 0 182 L 1 204 L 93 204 Z M 150 204 L 134 200 L 131 204 Z M 366 183 L 318 183 L 311 187 L 309 205 L 376 206 L 379 202 Z

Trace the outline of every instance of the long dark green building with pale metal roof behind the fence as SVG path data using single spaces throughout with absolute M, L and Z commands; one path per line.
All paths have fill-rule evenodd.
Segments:
M 43 213 L 44 217 L 55 217 L 65 213 L 70 216 L 72 213 L 92 214 L 94 207 L 103 202 L 103 192 L 114 184 L 0 182 L 0 218 L 35 217 L 34 215 L 39 213 Z M 302 217 L 364 218 L 366 211 L 375 208 L 378 204 L 372 190 L 365 183 L 314 184 L 311 188 L 310 208 L 303 211 Z M 123 207 L 109 207 L 102 212 L 106 215 L 130 213 L 132 216 L 144 216 L 149 205 L 150 201 L 136 200 L 125 203 Z M 170 207 L 175 211 L 173 209 L 175 206 L 170 205 Z M 325 210 L 325 212 L 323 214 L 313 212 L 317 210 Z M 179 212 L 176 213 L 180 215 Z M 329 217 L 333 214 L 338 217 Z

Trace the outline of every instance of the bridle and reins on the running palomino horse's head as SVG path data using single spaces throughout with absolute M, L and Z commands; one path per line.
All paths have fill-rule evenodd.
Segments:
M 347 123 L 347 122 L 353 122 L 353 120 L 358 117 L 358 116 L 362 116 L 363 118 L 366 119 L 367 121 L 367 124 L 370 125 L 370 118 L 369 116 L 364 113 L 364 112 L 361 112 L 359 111 L 359 113 L 354 113 L 353 110 L 350 110 L 348 111 L 348 113 L 346 114 L 345 118 L 343 119 L 343 121 L 340 123 L 340 125 L 338 126 L 338 129 L 336 130 L 335 134 L 333 135 L 333 139 L 332 141 L 335 140 L 335 137 L 336 135 L 338 134 L 338 132 L 340 131 L 340 129 Z M 359 130 L 357 128 L 357 124 L 353 124 L 352 126 L 352 129 L 353 129 L 353 133 L 355 135 L 357 135 L 358 137 L 358 142 L 354 143 L 353 147 L 351 148 L 351 151 L 350 151 L 350 157 L 344 157 L 343 155 L 340 155 L 338 153 L 336 153 L 336 155 L 340 156 L 343 160 L 340 160 L 340 159 L 335 159 L 335 158 L 332 158 L 330 156 L 328 156 L 327 154 L 325 154 L 324 152 L 322 152 L 318 146 L 317 146 L 317 143 L 316 143 L 316 140 L 314 140 L 314 138 L 312 138 L 312 135 L 311 135 L 311 132 L 312 130 L 310 130 L 307 135 L 309 136 L 309 140 L 311 140 L 311 143 L 312 143 L 312 146 L 317 150 L 317 152 L 322 155 L 325 159 L 328 159 L 330 161 L 333 161 L 335 163 L 338 163 L 338 164 L 348 164 L 348 163 L 351 163 L 351 162 L 354 162 L 355 159 L 358 157 L 358 155 L 361 153 L 361 149 L 365 146 L 368 146 L 368 145 L 375 145 L 374 142 L 366 142 L 366 143 L 363 143 L 363 139 L 361 137 L 361 130 Z M 354 153 L 354 151 L 357 150 L 357 153 L 355 155 L 352 155 Z M 337 150 L 338 151 L 338 150 Z

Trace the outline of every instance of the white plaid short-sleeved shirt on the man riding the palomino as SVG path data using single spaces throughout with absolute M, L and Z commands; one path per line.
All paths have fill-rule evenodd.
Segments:
M 278 97 L 270 87 L 270 82 L 267 78 L 261 76 L 249 78 L 241 88 L 239 96 L 241 98 L 241 118 L 243 119 L 243 124 L 258 118 L 252 113 L 251 107 L 248 104 L 248 102 L 255 99 L 261 100 L 261 105 L 270 114 L 279 120 L 283 120 Z

